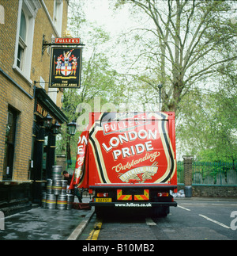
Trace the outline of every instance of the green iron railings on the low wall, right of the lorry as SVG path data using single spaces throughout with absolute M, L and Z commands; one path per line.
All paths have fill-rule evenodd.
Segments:
M 237 185 L 237 163 L 193 162 L 193 184 Z M 183 162 L 177 162 L 178 183 L 184 182 Z

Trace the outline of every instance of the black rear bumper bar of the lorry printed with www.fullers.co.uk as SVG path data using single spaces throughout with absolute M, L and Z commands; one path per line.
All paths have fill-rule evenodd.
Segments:
M 152 207 L 169 207 L 177 206 L 177 202 L 111 202 L 96 203 L 90 202 L 91 206 L 112 207 L 112 208 L 152 208 Z

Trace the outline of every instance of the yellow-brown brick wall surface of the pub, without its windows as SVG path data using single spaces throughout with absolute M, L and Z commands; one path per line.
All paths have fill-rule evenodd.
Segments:
M 54 13 L 54 1 L 44 0 L 51 19 Z M 19 73 L 13 70 L 16 33 L 17 33 L 17 0 L 1 0 L 5 10 L 5 24 L 0 25 L 0 181 L 2 181 L 5 154 L 6 124 L 9 106 L 17 110 L 17 132 L 13 164 L 13 181 L 28 181 L 29 159 L 32 154 L 32 125 L 35 99 L 34 84 L 30 84 Z M 66 29 L 68 2 L 63 1 L 62 31 Z M 30 78 L 40 81 L 40 76 L 48 82 L 50 72 L 50 53 L 47 49 L 42 55 L 43 35 L 51 42 L 51 36 L 58 35 L 51 25 L 46 10 L 41 6 L 36 14 L 32 48 L 32 66 Z M 39 86 L 37 84 L 37 86 Z M 45 90 L 48 86 L 45 86 Z

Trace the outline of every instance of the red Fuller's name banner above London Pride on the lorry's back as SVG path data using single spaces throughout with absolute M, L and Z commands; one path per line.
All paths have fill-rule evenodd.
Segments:
M 111 122 L 106 122 L 102 125 L 103 134 L 111 134 L 115 132 L 122 132 L 133 129 L 138 126 L 149 124 L 150 120 L 146 120 L 146 114 L 138 114 L 136 117 L 128 118 L 127 120 L 113 120 Z

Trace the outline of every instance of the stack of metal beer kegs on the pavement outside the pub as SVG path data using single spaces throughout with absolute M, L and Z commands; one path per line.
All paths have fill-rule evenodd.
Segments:
M 52 166 L 52 178 L 47 179 L 46 192 L 42 193 L 41 206 L 49 209 L 71 209 L 73 195 L 66 194 L 67 181 L 62 179 L 62 166 Z

